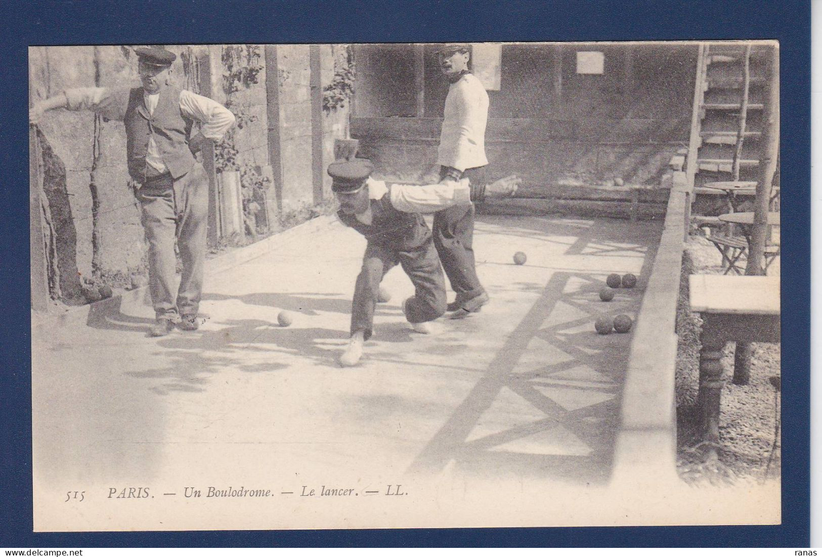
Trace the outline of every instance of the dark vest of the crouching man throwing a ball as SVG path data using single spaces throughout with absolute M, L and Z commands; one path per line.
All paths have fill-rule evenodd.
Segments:
M 371 224 L 361 223 L 353 214 L 337 212 L 339 220 L 366 237 L 368 243 L 395 251 L 414 251 L 431 241 L 431 229 L 423 215 L 404 213 L 391 205 L 390 191 L 371 200 Z

